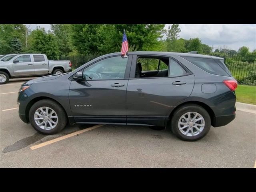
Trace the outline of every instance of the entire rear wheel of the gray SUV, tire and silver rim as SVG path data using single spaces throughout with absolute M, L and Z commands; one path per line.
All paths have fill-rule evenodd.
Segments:
M 209 132 L 211 118 L 208 112 L 199 105 L 186 104 L 172 117 L 171 128 L 174 134 L 185 141 L 196 141 Z

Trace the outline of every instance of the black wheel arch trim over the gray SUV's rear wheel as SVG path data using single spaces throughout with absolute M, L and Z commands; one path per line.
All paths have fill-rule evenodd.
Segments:
M 212 110 L 212 108 L 210 108 L 210 106 L 208 106 L 207 104 L 205 104 L 203 102 L 200 102 L 200 101 L 187 101 L 187 102 L 179 104 L 178 106 L 176 106 L 174 108 L 174 110 L 172 110 L 172 112 L 168 116 L 168 120 L 166 121 L 165 126 L 167 126 L 172 121 L 172 117 L 173 117 L 173 114 L 175 113 L 175 111 L 178 110 L 178 108 L 180 108 L 180 107 L 182 107 L 183 105 L 186 105 L 186 104 L 197 104 L 197 105 L 201 106 L 202 108 L 204 108 L 209 113 L 210 118 L 211 118 L 211 124 L 213 124 L 216 116 L 215 116 L 215 113 Z

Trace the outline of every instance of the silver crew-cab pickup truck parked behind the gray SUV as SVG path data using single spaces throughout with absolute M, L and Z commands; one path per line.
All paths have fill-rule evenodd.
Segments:
M 72 71 L 71 61 L 48 60 L 45 54 L 12 54 L 6 56 L 9 58 L 4 61 L 0 60 L 0 84 L 7 83 L 9 78 L 62 74 Z

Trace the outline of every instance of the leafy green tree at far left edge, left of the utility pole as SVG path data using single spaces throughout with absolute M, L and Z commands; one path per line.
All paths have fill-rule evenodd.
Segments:
M 0 24 L 0 54 L 20 52 L 24 44 L 25 26 L 23 24 Z

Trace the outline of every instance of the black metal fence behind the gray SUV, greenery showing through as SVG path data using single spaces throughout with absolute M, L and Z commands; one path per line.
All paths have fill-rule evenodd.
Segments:
M 85 64 L 86 62 L 98 57 L 100 55 L 88 55 L 88 56 L 62 56 L 60 60 L 70 60 L 74 68 Z M 230 70 L 232 76 L 236 78 L 239 84 L 256 85 L 256 56 L 240 56 L 240 55 L 228 55 L 228 54 L 214 54 L 224 58 L 224 62 Z M 147 66 L 143 66 L 145 70 L 157 70 L 158 61 L 147 61 Z M 164 65 L 163 65 L 164 66 Z M 162 65 L 160 64 L 160 68 Z

